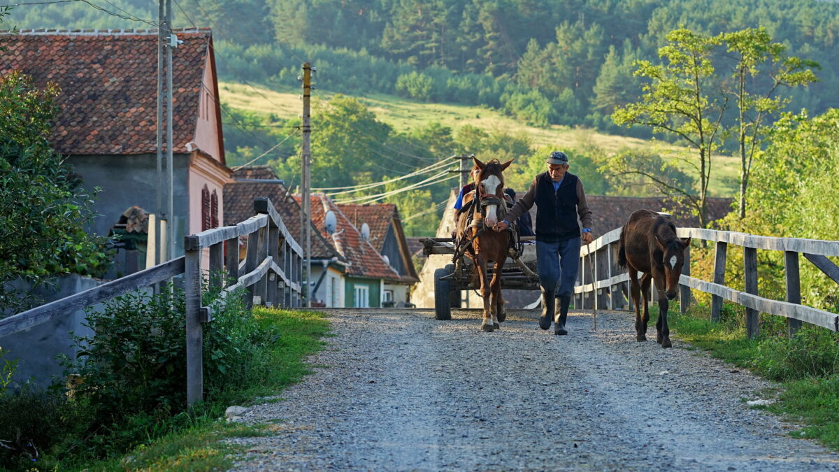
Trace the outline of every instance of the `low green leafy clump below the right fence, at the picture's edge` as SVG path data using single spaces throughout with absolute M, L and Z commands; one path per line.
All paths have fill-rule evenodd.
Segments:
M 768 338 L 758 346 L 757 369 L 772 380 L 797 380 L 839 374 L 836 334 L 805 327 L 792 338 Z

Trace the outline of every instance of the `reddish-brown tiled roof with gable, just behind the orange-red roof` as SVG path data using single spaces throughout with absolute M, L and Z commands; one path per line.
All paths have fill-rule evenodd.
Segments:
M 338 205 L 341 212 L 352 221 L 353 226 L 361 228 L 362 224 L 367 223 L 370 228 L 370 244 L 376 249 L 379 254 L 382 253 L 384 247 L 384 240 L 388 235 L 388 228 L 392 224 L 399 225 L 399 228 L 393 228 L 393 237 L 397 239 L 399 247 L 404 247 L 405 251 L 409 251 L 408 241 L 404 240 L 404 233 L 402 231 L 402 223 L 399 219 L 399 210 L 393 203 L 367 203 L 366 205 L 357 205 L 353 203 L 344 203 Z M 394 223 L 395 222 L 395 223 Z M 399 239 L 403 239 L 399 241 Z M 416 274 L 414 262 L 411 260 L 411 254 L 403 254 L 405 263 L 408 265 L 407 274 L 402 276 L 404 282 L 420 281 L 420 277 Z

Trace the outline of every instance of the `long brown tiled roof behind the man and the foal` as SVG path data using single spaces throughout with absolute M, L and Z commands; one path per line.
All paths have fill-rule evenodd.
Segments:
M 640 208 L 647 208 L 656 212 L 664 211 L 673 215 L 674 223 L 682 228 L 698 228 L 699 219 L 685 217 L 684 208 L 675 208 L 664 197 L 607 197 L 602 195 L 586 195 L 588 206 L 591 207 L 592 226 L 597 236 L 608 233 L 615 228 L 621 228 L 629 215 Z M 720 219 L 731 212 L 731 198 L 709 197 L 706 200 L 706 218 L 709 222 Z M 535 226 L 535 214 L 534 214 Z

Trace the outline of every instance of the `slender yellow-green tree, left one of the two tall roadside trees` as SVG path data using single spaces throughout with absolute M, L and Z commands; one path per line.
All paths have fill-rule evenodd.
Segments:
M 728 98 L 718 91 L 716 70 L 711 60 L 722 36 L 675 29 L 667 34 L 667 45 L 659 48 L 663 64 L 639 60 L 636 75 L 649 80 L 638 102 L 620 107 L 612 113 L 618 125 L 649 126 L 654 133 L 669 134 L 682 139 L 692 150 L 692 158 L 681 159 L 699 174 L 699 188 L 669 186 L 654 172 L 644 176 L 670 189 L 690 203 L 702 228 L 705 228 L 706 197 L 711 181 L 711 155 L 720 145 L 722 118 Z M 626 167 L 618 173 L 630 172 Z

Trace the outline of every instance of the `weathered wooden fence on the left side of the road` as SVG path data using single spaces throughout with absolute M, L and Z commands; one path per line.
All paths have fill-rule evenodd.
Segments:
M 303 251 L 300 244 L 285 228 L 268 198 L 254 199 L 253 210 L 256 216 L 242 223 L 186 236 L 185 255 L 177 259 L 0 320 L 0 338 L 185 274 L 186 396 L 190 405 L 200 401 L 204 390 L 203 323 L 212 321 L 209 308 L 201 307 L 201 281 L 206 275 L 201 268 L 201 249 L 208 248 L 210 252 L 210 266 L 206 269 L 212 274 L 225 274 L 229 281 L 226 283 L 221 277 L 211 277 L 210 284 L 216 289 L 230 293 L 246 287 L 249 307 L 253 304 L 301 306 Z M 241 236 L 248 237 L 243 267 L 239 261 Z M 227 260 L 224 257 L 225 243 Z M 222 284 L 225 286 L 222 287 Z

